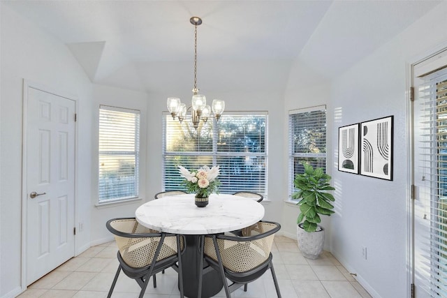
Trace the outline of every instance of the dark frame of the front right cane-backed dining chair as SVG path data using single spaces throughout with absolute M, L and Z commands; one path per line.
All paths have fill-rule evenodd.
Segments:
M 274 226 L 273 228 L 271 228 L 270 230 L 267 230 L 266 232 L 263 232 L 262 229 L 259 230 L 255 227 L 255 225 L 262 225 L 263 223 L 270 225 L 270 226 Z M 273 263 L 272 263 L 272 253 L 271 253 L 271 244 L 270 247 L 268 247 L 267 251 L 264 251 L 265 253 L 268 253 L 267 258 L 265 258 L 265 260 L 263 260 L 260 264 L 257 264 L 256 262 L 254 262 L 254 264 L 256 264 L 256 266 L 252 266 L 249 267 L 249 269 L 244 270 L 244 269 L 229 269 L 228 267 L 223 265 L 223 260 L 222 260 L 222 252 L 219 248 L 220 247 L 225 247 L 223 245 L 223 241 L 231 241 L 233 242 L 233 244 L 237 244 L 237 243 L 241 243 L 242 245 L 253 245 L 256 246 L 258 249 L 261 249 L 261 246 L 264 246 L 263 249 L 265 249 L 265 246 L 268 246 L 268 244 L 265 244 L 264 242 L 267 241 L 273 241 L 273 236 L 274 233 L 276 233 L 277 231 L 279 231 L 279 229 L 281 228 L 281 225 L 279 225 L 279 223 L 274 223 L 274 222 L 270 222 L 270 221 L 260 221 L 258 223 L 256 223 L 255 225 L 252 225 L 251 227 L 248 228 L 244 228 L 242 229 L 242 234 L 249 234 L 250 229 L 252 227 L 252 231 L 255 231 L 255 233 L 259 234 L 254 234 L 254 235 L 249 235 L 249 236 L 228 236 L 225 234 L 213 234 L 213 235 L 207 235 L 202 237 L 201 239 L 201 244 L 200 246 L 203 248 L 200 251 L 200 254 L 203 256 L 203 259 L 207 262 L 208 265 L 210 265 L 210 267 L 212 267 L 213 269 L 217 270 L 220 272 L 221 277 L 222 277 L 222 282 L 223 282 L 223 287 L 225 288 L 225 292 L 226 292 L 226 297 L 230 298 L 231 292 L 234 292 L 235 290 L 237 290 L 238 288 L 242 287 L 242 285 L 244 286 L 244 291 L 247 291 L 247 284 L 250 283 L 251 281 L 255 281 L 257 278 L 261 277 L 265 271 L 267 271 L 268 269 L 270 269 L 271 273 L 272 273 L 272 277 L 273 277 L 273 282 L 274 282 L 274 287 L 277 291 L 277 296 L 278 298 L 281 298 L 281 292 L 279 291 L 279 285 L 278 285 L 278 281 L 277 281 L 277 277 L 276 274 L 274 273 L 274 267 L 273 267 Z M 271 239 L 268 239 L 268 237 L 271 237 Z M 261 244 L 259 243 L 261 241 Z M 220 245 L 219 245 L 219 242 Z M 211 247 L 214 246 L 214 249 Z M 212 252 L 212 250 L 214 250 L 214 252 Z M 214 255 L 215 253 L 215 255 Z M 242 256 L 242 258 L 245 255 Z M 216 260 L 217 257 L 217 260 Z M 237 255 L 234 255 L 235 258 L 237 258 Z M 246 266 L 245 262 L 244 265 Z M 242 266 L 242 267 L 243 267 Z M 237 265 L 235 265 L 235 267 L 237 267 Z M 199 286 L 202 284 L 201 281 L 202 276 L 199 276 Z M 231 285 L 228 285 L 227 283 L 227 278 L 233 282 Z M 200 293 L 198 298 L 200 298 Z

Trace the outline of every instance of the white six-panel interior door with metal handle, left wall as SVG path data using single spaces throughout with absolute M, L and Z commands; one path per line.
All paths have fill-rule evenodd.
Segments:
M 27 87 L 27 285 L 75 253 L 75 101 Z

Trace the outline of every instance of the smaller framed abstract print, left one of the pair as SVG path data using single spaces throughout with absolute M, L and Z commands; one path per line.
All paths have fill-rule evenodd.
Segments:
M 338 128 L 338 170 L 358 174 L 358 126 Z

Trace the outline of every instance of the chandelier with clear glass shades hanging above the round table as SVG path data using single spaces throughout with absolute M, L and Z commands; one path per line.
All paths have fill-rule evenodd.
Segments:
M 180 101 L 180 98 L 169 97 L 167 100 L 168 110 L 173 116 L 173 119 L 177 119 L 182 123 L 186 118 L 189 110 L 191 110 L 191 121 L 194 128 L 198 128 L 200 120 L 206 122 L 208 118 L 211 117 L 211 111 L 217 121 L 221 117 L 223 110 L 225 110 L 225 101 L 214 99 L 212 100 L 212 105 L 207 105 L 207 100 L 203 94 L 198 94 L 197 87 L 197 27 L 202 24 L 202 19 L 200 17 L 191 17 L 189 22 L 194 25 L 194 87 L 193 87 L 193 97 L 191 100 L 191 105 L 186 107 L 184 103 Z

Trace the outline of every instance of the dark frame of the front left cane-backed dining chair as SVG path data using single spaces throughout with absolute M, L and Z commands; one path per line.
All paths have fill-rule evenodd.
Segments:
M 135 221 L 135 228 L 133 228 L 133 231 L 131 232 L 124 232 L 122 230 L 117 230 L 113 227 L 113 224 L 116 222 L 125 222 L 125 221 Z M 169 267 L 173 267 L 175 271 L 177 271 L 179 276 L 179 290 L 180 290 L 180 296 L 184 297 L 183 294 L 183 278 L 182 278 L 182 253 L 184 252 L 185 247 L 185 241 L 184 237 L 178 234 L 168 234 L 165 232 L 158 232 L 154 230 L 150 230 L 148 228 L 142 227 L 135 218 L 114 218 L 110 219 L 105 226 L 107 229 L 112 233 L 115 234 L 115 239 L 118 241 L 123 241 L 123 239 L 129 239 L 129 241 L 133 241 L 133 246 L 136 247 L 131 253 L 129 252 L 131 249 L 129 248 L 129 251 L 124 251 L 122 249 L 122 246 L 119 245 L 119 251 L 117 253 L 117 258 L 119 261 L 119 266 L 117 269 L 117 273 L 115 274 L 115 278 L 113 279 L 112 285 L 110 286 L 110 290 L 108 292 L 108 298 L 112 296 L 113 289 L 115 288 L 115 285 L 118 280 L 119 273 L 121 271 L 126 274 L 129 278 L 133 278 L 138 285 L 140 285 L 141 291 L 139 298 L 142 298 L 145 295 L 145 291 L 147 288 L 147 285 L 149 284 L 149 279 L 152 276 L 152 279 L 154 281 L 154 288 L 156 288 L 156 277 L 155 274 L 159 273 L 160 271 L 163 271 L 164 269 L 168 269 Z M 135 230 L 149 230 L 150 232 L 137 232 Z M 160 257 L 163 256 L 164 251 L 166 251 L 166 243 L 165 240 L 169 239 L 170 237 L 175 237 L 175 243 L 177 252 L 170 253 L 166 256 L 166 258 L 162 258 L 161 260 L 158 260 Z M 156 248 L 154 245 L 152 245 L 152 249 L 142 249 L 142 247 L 145 244 L 145 239 L 154 239 L 154 242 L 157 242 Z M 171 240 L 172 241 L 172 240 Z M 155 251 L 154 251 L 155 248 Z M 172 248 L 170 248 L 172 250 Z M 163 253 L 161 254 L 161 252 Z M 147 253 L 147 255 L 140 255 L 139 253 Z M 154 253 L 153 256 L 150 254 Z M 124 256 L 123 256 L 124 255 Z M 143 258 L 141 258 L 143 257 Z M 135 262 L 141 262 L 141 260 L 150 260 L 152 257 L 152 261 L 149 265 L 145 265 L 142 267 L 132 267 L 129 265 L 126 260 L 132 260 L 135 258 Z M 125 260 L 126 259 L 126 260 Z M 177 265 L 178 264 L 178 265 Z M 135 264 L 133 264 L 135 265 Z

